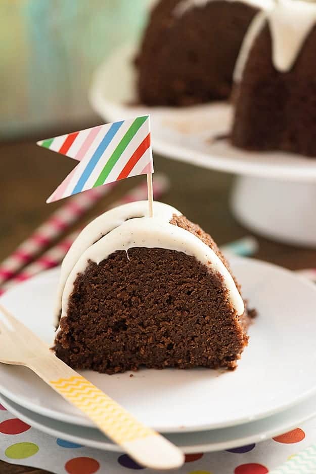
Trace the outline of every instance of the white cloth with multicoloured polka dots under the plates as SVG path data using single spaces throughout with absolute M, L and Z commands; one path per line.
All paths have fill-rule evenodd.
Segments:
M 316 443 L 316 420 L 271 440 L 218 453 L 187 454 L 180 474 L 267 474 Z M 54 438 L 33 429 L 0 405 L 0 459 L 55 474 L 131 474 L 146 471 L 126 454 Z M 157 471 L 152 471 L 154 472 Z M 313 472 L 313 471 L 312 471 Z M 295 474 L 299 474 L 299 471 Z M 311 473 L 310 473 L 311 474 Z

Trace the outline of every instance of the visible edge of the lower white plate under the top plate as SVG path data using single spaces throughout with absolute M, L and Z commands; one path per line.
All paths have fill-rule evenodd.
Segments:
M 99 441 L 89 438 L 88 431 L 98 431 L 94 428 L 86 429 L 84 427 L 82 436 L 72 434 L 72 429 L 77 429 L 76 425 L 70 423 L 64 423 L 51 418 L 44 417 L 24 407 L 15 404 L 10 401 L 2 394 L 0 394 L 0 402 L 10 413 L 17 416 L 19 419 L 29 424 L 39 431 L 43 431 L 56 438 L 62 438 L 65 441 L 77 443 L 82 446 L 102 449 L 105 451 L 122 452 L 120 446 L 111 443 L 106 437 L 105 441 Z M 306 406 L 308 405 L 308 406 Z M 316 399 L 311 398 L 307 400 L 307 403 L 299 404 L 298 406 L 285 410 L 277 415 L 272 415 L 263 420 L 258 420 L 252 423 L 247 423 L 241 426 L 235 426 L 235 430 L 239 430 L 238 436 L 232 439 L 232 436 L 227 440 L 208 442 L 208 436 L 216 436 L 216 432 L 221 432 L 221 435 L 225 436 L 225 432 L 228 434 L 232 432 L 231 428 L 222 428 L 219 430 L 209 430 L 200 432 L 190 433 L 176 433 L 176 434 L 164 434 L 164 436 L 178 446 L 184 453 L 193 454 L 200 452 L 215 452 L 223 451 L 227 449 L 234 449 L 240 446 L 248 446 L 252 443 L 258 443 L 265 441 L 269 438 L 273 438 L 288 432 L 296 428 L 301 423 L 308 421 L 316 416 Z M 98 431 L 99 433 L 99 431 Z M 100 433 L 100 437 L 102 437 Z

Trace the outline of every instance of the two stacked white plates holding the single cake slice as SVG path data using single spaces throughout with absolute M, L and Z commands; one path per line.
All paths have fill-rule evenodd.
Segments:
M 316 416 L 316 287 L 296 274 L 234 258 L 243 295 L 258 316 L 237 370 L 140 370 L 87 379 L 187 453 L 217 451 L 277 436 Z M 21 283 L 1 303 L 52 344 L 59 269 Z M 0 365 L 0 402 L 53 436 L 119 451 L 79 411 L 24 367 Z

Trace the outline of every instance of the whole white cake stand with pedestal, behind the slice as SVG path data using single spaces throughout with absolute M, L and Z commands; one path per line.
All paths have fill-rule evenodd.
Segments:
M 154 151 L 196 166 L 238 175 L 231 207 L 255 232 L 289 244 L 316 247 L 316 159 L 289 153 L 250 153 L 230 145 L 232 108 L 213 103 L 186 108 L 137 103 L 135 46 L 123 47 L 96 71 L 89 98 L 114 122 L 150 114 Z

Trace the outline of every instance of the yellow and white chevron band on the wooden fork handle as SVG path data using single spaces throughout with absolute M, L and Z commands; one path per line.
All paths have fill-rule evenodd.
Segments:
M 107 430 L 109 437 L 116 443 L 156 434 L 84 377 L 60 378 L 50 383 L 66 400 L 91 417 L 97 426 Z

